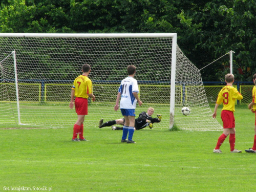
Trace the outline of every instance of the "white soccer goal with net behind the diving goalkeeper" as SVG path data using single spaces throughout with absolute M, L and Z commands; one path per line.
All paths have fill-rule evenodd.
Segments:
M 163 116 L 154 123 L 156 129 L 168 129 L 174 123 L 184 130 L 220 130 L 222 126 L 211 117 L 200 71 L 173 37 L 0 33 L 0 124 L 73 126 L 77 116 L 69 109 L 71 87 L 84 63 L 92 67 L 89 78 L 96 96 L 95 102 L 89 100 L 84 124 L 98 127 L 101 118 L 122 118 L 113 108 L 126 68 L 133 64 L 143 102 L 136 108 L 136 117 L 153 107 L 154 117 Z M 183 106 L 190 109 L 188 116 L 182 115 Z

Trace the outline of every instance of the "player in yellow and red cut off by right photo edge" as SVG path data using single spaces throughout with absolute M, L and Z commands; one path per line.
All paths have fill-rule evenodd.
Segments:
M 248 109 L 251 110 L 252 113 L 256 112 L 256 73 L 252 76 L 254 87 L 252 88 L 252 101 L 248 105 Z M 256 113 L 255 113 L 255 123 L 254 123 L 254 140 L 252 148 L 249 150 L 245 150 L 246 153 L 256 153 Z

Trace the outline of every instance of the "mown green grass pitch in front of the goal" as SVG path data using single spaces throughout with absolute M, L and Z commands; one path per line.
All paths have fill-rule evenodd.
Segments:
M 212 153 L 217 131 L 144 129 L 134 133 L 137 144 L 127 144 L 121 131 L 107 128 L 85 126 L 90 142 L 72 142 L 73 127 L 1 126 L 0 191 L 255 191 L 256 154 L 244 152 L 253 144 L 255 117 L 238 107 L 235 118 L 241 154 L 229 152 L 228 138 L 223 154 Z

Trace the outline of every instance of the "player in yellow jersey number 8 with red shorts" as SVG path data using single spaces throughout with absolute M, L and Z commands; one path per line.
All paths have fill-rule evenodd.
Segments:
M 234 128 L 235 123 L 234 123 L 233 112 L 234 112 L 234 102 L 236 101 L 236 99 L 238 100 L 243 99 L 243 96 L 238 92 L 236 88 L 232 87 L 234 82 L 233 74 L 227 74 L 225 76 L 225 81 L 227 84 L 219 92 L 215 109 L 214 109 L 214 114 L 212 114 L 212 117 L 216 118 L 218 106 L 221 103 L 223 103 L 223 108 L 221 111 L 221 119 L 223 121 L 224 131 L 217 141 L 217 145 L 214 148 L 214 153 L 222 153 L 220 150 L 220 146 L 228 135 L 229 135 L 230 152 L 242 153 L 242 151 L 239 151 L 236 148 L 234 148 L 234 143 L 236 142 L 236 129 Z

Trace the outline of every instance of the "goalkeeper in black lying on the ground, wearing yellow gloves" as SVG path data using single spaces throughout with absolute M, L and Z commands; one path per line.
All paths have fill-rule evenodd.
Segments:
M 141 130 L 146 126 L 149 126 L 150 129 L 153 128 L 153 123 L 159 123 L 162 119 L 162 115 L 157 115 L 157 118 L 153 118 L 152 115 L 154 114 L 154 108 L 148 108 L 147 113 L 141 112 L 139 117 L 135 119 L 135 130 Z M 99 121 L 99 128 L 104 126 L 112 126 L 114 124 L 121 124 L 124 125 L 124 118 L 116 119 L 112 121 L 107 121 L 103 123 L 103 119 Z M 112 130 L 122 130 L 123 127 L 112 126 Z

